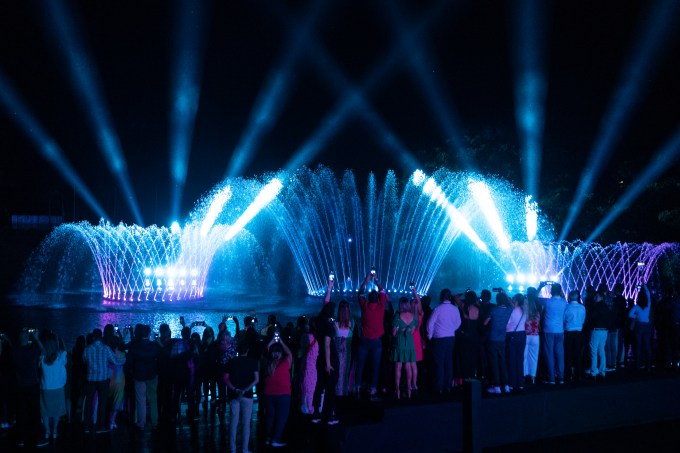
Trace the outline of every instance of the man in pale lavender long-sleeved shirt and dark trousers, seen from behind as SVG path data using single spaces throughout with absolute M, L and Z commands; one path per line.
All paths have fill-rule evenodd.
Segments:
M 451 390 L 453 381 L 453 346 L 460 327 L 460 311 L 451 303 L 451 290 L 439 294 L 439 305 L 427 322 L 427 338 L 432 346 L 434 388 L 440 393 Z

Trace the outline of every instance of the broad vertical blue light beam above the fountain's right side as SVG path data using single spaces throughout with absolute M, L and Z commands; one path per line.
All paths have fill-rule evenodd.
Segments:
M 546 14 L 543 0 L 516 0 L 513 9 L 515 120 L 517 122 L 524 188 L 538 198 L 545 124 L 544 54 Z

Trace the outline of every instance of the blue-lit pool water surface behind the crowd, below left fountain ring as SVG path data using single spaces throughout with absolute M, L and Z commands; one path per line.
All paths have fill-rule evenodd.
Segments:
M 224 316 L 238 317 L 243 326 L 243 318 L 250 315 L 257 318 L 257 328 L 260 329 L 266 325 L 269 314 L 276 314 L 277 320 L 283 324 L 295 322 L 300 315 L 316 315 L 322 303 L 320 298 L 280 296 L 214 296 L 181 304 L 118 303 L 102 301 L 96 294 L 39 295 L 30 299 L 5 296 L 0 299 L 0 332 L 15 339 L 22 327 L 51 329 L 70 347 L 78 335 L 91 332 L 95 327 L 103 328 L 106 324 L 118 324 L 123 328 L 142 323 L 158 331 L 158 327 L 166 323 L 175 337 L 181 330 L 180 316 L 184 316 L 187 324 L 205 321 L 217 329 Z M 358 313 L 358 306 L 352 305 Z M 233 321 L 227 321 L 227 328 L 235 333 Z M 203 330 L 204 327 L 198 326 L 192 331 L 202 334 Z

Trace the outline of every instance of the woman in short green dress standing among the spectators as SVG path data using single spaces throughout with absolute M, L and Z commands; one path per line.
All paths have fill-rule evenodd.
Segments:
M 415 386 L 413 382 L 416 374 L 416 348 L 413 343 L 413 331 L 418 328 L 418 316 L 413 313 L 411 302 L 407 297 L 399 299 L 399 311 L 394 314 L 392 322 L 392 336 L 395 344 L 392 351 L 392 361 L 394 367 L 394 394 L 397 399 L 401 397 L 401 366 L 404 364 L 406 369 L 406 388 L 407 398 L 411 397 L 411 389 Z

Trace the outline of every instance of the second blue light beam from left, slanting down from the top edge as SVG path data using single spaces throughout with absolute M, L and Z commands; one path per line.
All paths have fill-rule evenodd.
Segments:
M 137 198 L 130 183 L 125 157 L 111 124 L 108 111 L 104 107 L 104 96 L 96 82 L 94 65 L 90 61 L 85 48 L 76 39 L 75 23 L 61 0 L 46 2 L 45 7 L 45 18 L 49 21 L 52 33 L 56 38 L 54 40 L 55 47 L 61 53 L 70 71 L 71 84 L 87 112 L 86 117 L 91 122 L 91 128 L 97 138 L 99 149 L 125 195 L 125 200 L 135 222 L 138 225 L 144 225 L 137 205 Z

